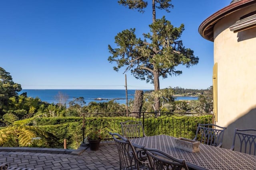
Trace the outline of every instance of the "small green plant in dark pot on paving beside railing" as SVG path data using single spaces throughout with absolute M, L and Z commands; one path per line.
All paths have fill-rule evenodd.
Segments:
M 101 141 L 100 131 L 91 131 L 87 135 L 87 139 L 90 145 L 90 150 L 99 150 Z

